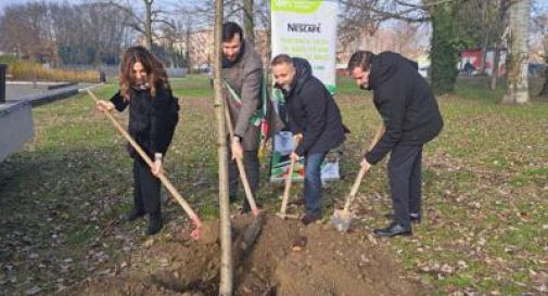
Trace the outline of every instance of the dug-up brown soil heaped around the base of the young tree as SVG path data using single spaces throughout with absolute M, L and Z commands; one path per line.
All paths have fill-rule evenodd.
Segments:
M 240 245 L 253 219 L 232 220 L 234 295 L 425 295 L 365 233 L 341 234 L 329 223 L 303 227 L 267 216 L 255 245 L 243 254 Z M 56 295 L 218 295 L 218 224 L 204 223 L 199 242 L 189 242 L 187 232 L 136 250 L 117 274 L 87 279 Z M 157 266 L 142 268 L 145 262 Z

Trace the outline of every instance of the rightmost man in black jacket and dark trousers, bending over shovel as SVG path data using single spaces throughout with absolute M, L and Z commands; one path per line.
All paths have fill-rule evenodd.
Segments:
M 417 63 L 393 52 L 355 52 L 348 70 L 358 87 L 373 90 L 373 102 L 386 132 L 361 160 L 369 169 L 388 152 L 394 221 L 377 229 L 379 236 L 410 235 L 411 220 L 421 219 L 422 146 L 443 128 L 437 102 Z

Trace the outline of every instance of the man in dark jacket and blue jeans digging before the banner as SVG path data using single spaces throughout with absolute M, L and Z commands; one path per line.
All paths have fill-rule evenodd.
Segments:
M 345 128 L 339 106 L 313 76 L 308 61 L 280 54 L 271 65 L 276 87 L 285 99 L 286 123 L 293 134 L 303 139 L 291 157 L 305 157 L 306 215 L 302 221 L 308 224 L 321 218 L 321 163 L 331 149 L 345 140 Z

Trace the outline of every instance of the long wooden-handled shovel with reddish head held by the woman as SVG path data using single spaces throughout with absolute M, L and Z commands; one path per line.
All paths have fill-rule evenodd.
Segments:
M 89 89 L 87 91 L 88 91 L 88 94 L 91 96 L 91 99 L 93 99 L 93 101 L 95 101 L 95 103 L 99 102 L 99 99 L 95 96 L 95 94 L 93 92 L 91 92 Z M 133 146 L 133 149 L 137 151 L 137 153 L 139 153 L 139 155 L 146 163 L 146 165 L 149 165 L 149 167 L 152 168 L 154 163 L 151 160 L 149 155 L 146 155 L 146 153 L 139 146 L 139 144 L 131 138 L 131 136 L 129 136 L 129 133 L 120 126 L 120 124 L 114 118 L 114 116 L 112 116 L 112 114 L 109 111 L 104 111 L 103 113 L 106 115 L 106 117 L 109 117 L 109 119 L 114 125 L 114 127 L 119 131 L 119 133 L 122 133 L 122 136 L 124 138 L 126 138 L 126 140 L 129 142 L 129 144 L 131 144 L 131 146 Z M 189 203 L 187 203 L 187 201 L 184 201 L 184 198 L 182 198 L 182 196 L 179 194 L 179 192 L 177 192 L 177 190 L 171 184 L 169 179 L 167 179 L 167 177 L 164 175 L 163 170 L 160 171 L 160 173 L 157 175 L 157 178 L 167 188 L 169 193 L 171 193 L 171 195 L 175 197 L 175 200 L 177 200 L 179 205 L 182 207 L 182 209 L 187 213 L 189 218 L 192 220 L 192 223 L 194 224 L 194 230 L 190 233 L 190 236 L 194 241 L 199 240 L 200 239 L 200 230 L 202 228 L 202 221 L 200 220 L 197 215 L 194 213 L 194 210 L 192 210 Z

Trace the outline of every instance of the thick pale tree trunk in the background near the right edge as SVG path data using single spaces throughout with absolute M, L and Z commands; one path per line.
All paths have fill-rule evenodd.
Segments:
M 510 7 L 510 42 L 507 65 L 507 93 L 502 104 L 528 102 L 528 21 L 531 0 L 521 0 Z

